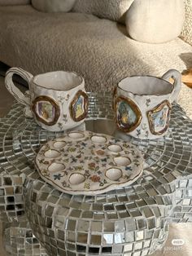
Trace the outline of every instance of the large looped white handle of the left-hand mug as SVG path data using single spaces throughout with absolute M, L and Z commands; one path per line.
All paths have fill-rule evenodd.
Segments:
M 5 85 L 7 87 L 7 90 L 11 93 L 11 95 L 14 96 L 14 98 L 20 103 L 26 106 L 24 109 L 24 113 L 27 117 L 32 117 L 31 113 L 31 106 L 30 106 L 30 95 L 28 94 L 28 91 L 23 94 L 13 83 L 13 75 L 19 75 L 20 77 L 24 78 L 26 82 L 28 82 L 28 87 L 30 90 L 30 82 L 33 79 L 33 75 L 31 73 L 28 73 L 22 68 L 10 68 L 5 77 Z

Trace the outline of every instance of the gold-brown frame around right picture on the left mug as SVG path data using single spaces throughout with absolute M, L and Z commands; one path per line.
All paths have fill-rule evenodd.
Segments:
M 77 99 L 79 99 L 79 97 L 81 95 L 84 97 L 84 106 L 83 106 L 84 107 L 84 113 L 80 117 L 76 118 L 76 116 L 73 113 L 73 106 L 76 104 Z M 75 95 L 75 97 L 72 99 L 72 102 L 71 102 L 70 106 L 69 106 L 70 115 L 71 115 L 73 121 L 81 121 L 81 120 L 83 120 L 87 116 L 88 104 L 89 104 L 88 95 L 85 93 L 85 91 L 78 90 L 76 95 Z

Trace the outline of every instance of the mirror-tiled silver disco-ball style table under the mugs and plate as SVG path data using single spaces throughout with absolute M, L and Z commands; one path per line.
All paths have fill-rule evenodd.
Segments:
M 89 102 L 86 129 L 121 136 L 111 95 L 89 94 Z M 12 222 L 4 227 L 12 255 L 144 256 L 164 245 L 168 223 L 192 221 L 192 121 L 177 104 L 165 138 L 131 139 L 145 159 L 142 177 L 98 196 L 68 195 L 39 177 L 37 150 L 63 132 L 41 130 L 22 109 L 15 104 L 0 120 L 0 216 Z

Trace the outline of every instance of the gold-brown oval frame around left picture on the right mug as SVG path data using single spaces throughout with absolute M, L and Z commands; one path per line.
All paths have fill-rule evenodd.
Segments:
M 120 101 L 125 101 L 126 103 L 128 103 L 130 105 L 130 107 L 133 109 L 134 113 L 136 114 L 137 121 L 135 122 L 135 124 L 133 126 L 130 126 L 129 128 L 125 128 L 125 127 L 120 126 L 120 124 L 118 122 L 117 104 Z M 114 107 L 115 107 L 115 115 L 116 115 L 116 126 L 119 130 L 122 130 L 124 132 L 131 132 L 131 131 L 135 130 L 137 128 L 137 126 L 139 126 L 141 124 L 142 113 L 141 113 L 140 109 L 137 107 L 137 104 L 135 104 L 132 99 L 126 98 L 124 96 L 119 96 L 115 100 L 115 106 Z

